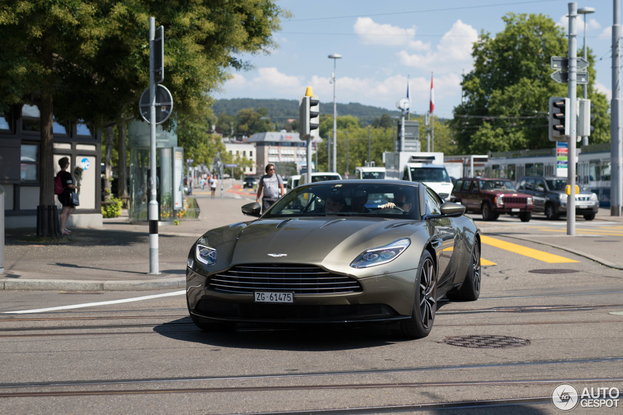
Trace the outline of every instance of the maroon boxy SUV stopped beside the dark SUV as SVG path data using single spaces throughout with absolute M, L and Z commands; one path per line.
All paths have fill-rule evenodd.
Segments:
M 450 201 L 465 206 L 465 211 L 482 213 L 485 221 L 495 221 L 500 214 L 516 214 L 521 222 L 528 222 L 535 210 L 532 196 L 518 193 L 508 179 L 465 177 L 458 179 Z

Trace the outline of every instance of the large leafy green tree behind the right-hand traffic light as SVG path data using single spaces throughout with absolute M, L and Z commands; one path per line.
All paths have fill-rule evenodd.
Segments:
M 474 69 L 462 82 L 465 103 L 454 108 L 449 124 L 459 153 L 553 146 L 548 140 L 549 97 L 566 96 L 567 86 L 550 78 L 549 61 L 567 54 L 568 41 L 547 16 L 508 13 L 502 19 L 502 32 L 494 37 L 483 32 L 473 45 Z M 597 115 L 590 140 L 599 143 L 609 140 L 607 101 L 594 88 L 592 53 L 589 62 L 588 97 Z M 579 86 L 578 96 L 581 91 Z

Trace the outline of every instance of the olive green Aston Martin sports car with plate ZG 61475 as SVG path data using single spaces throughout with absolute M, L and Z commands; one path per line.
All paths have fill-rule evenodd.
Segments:
M 440 298 L 480 294 L 480 236 L 464 211 L 398 180 L 298 186 L 262 216 L 246 204 L 258 219 L 207 231 L 190 250 L 191 318 L 206 331 L 381 322 L 427 336 Z

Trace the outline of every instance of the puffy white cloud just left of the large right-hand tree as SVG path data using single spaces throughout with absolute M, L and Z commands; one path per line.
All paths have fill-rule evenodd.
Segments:
M 472 44 L 477 41 L 478 32 L 472 26 L 457 20 L 452 28 L 444 34 L 437 45 L 436 52 L 426 55 L 411 55 L 406 50 L 398 52 L 403 65 L 432 70 L 452 71 L 457 69 L 456 64 L 472 63 Z M 452 64 L 452 65 L 448 65 Z M 468 69 L 463 65 L 461 69 Z

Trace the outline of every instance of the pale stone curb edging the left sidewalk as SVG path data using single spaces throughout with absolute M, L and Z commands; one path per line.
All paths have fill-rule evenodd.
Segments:
M 37 280 L 37 279 L 0 279 L 0 291 L 145 291 L 185 289 L 186 277 L 157 280 Z

